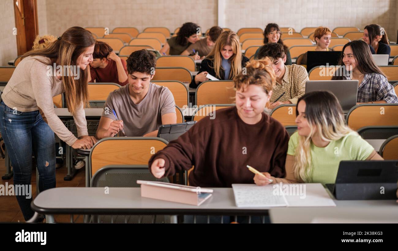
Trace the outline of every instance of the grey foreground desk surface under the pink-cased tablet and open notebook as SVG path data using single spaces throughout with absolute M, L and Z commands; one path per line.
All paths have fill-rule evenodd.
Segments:
M 200 206 L 140 196 L 140 188 L 57 187 L 43 191 L 32 202 L 44 214 L 269 214 L 271 221 L 311 222 L 315 217 L 339 216 L 359 220 L 398 222 L 395 200 L 337 201 L 336 207 L 238 208 L 232 188 L 213 188 L 213 196 Z

